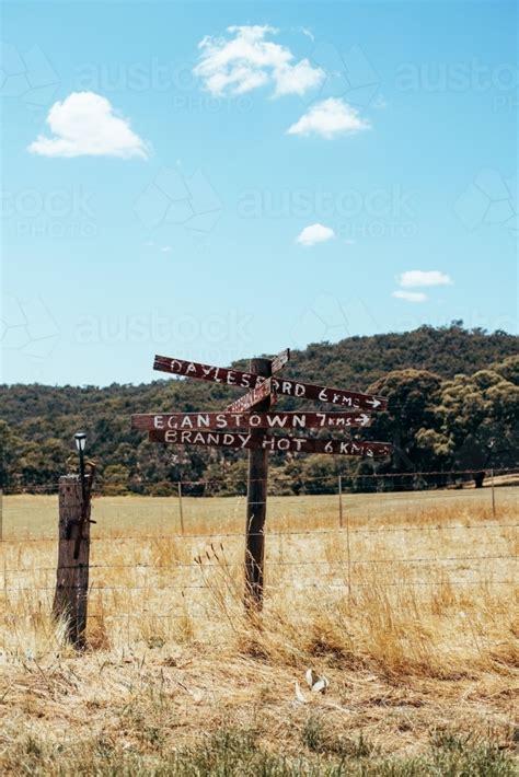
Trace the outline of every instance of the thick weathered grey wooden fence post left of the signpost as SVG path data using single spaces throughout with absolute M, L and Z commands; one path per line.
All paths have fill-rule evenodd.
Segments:
M 53 613 L 55 617 L 65 618 L 67 638 L 79 648 L 84 647 L 86 628 L 91 477 L 86 475 L 85 478 L 88 505 L 84 507 L 81 477 L 65 475 L 59 478 L 58 568 Z

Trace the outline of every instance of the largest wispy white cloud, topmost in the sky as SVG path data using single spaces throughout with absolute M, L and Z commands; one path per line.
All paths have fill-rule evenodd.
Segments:
M 199 62 L 193 70 L 215 96 L 244 94 L 268 84 L 275 96 L 302 95 L 325 78 L 324 70 L 308 59 L 296 62 L 289 48 L 266 40 L 278 33 L 275 27 L 232 26 L 227 32 L 231 37 L 206 35 L 200 40 Z

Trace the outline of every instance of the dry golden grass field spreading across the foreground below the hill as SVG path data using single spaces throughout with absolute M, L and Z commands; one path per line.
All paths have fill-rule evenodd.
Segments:
M 257 617 L 242 497 L 184 498 L 184 535 L 174 498 L 97 498 L 82 654 L 57 497 L 5 497 L 0 769 L 511 775 L 518 494 L 345 495 L 342 527 L 336 496 L 273 497 Z

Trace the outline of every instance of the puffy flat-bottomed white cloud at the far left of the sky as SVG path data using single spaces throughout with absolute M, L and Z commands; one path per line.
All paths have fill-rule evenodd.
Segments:
M 28 146 L 41 156 L 119 156 L 146 159 L 149 148 L 116 116 L 106 97 L 94 92 L 72 92 L 57 102 L 46 119 L 54 137 L 43 135 Z

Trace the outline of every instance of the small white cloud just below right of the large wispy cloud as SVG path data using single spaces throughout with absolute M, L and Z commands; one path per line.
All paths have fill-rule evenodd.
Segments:
M 369 129 L 370 126 L 345 100 L 328 97 L 303 114 L 287 129 L 287 135 L 321 135 L 323 138 L 333 138 L 345 132 Z

